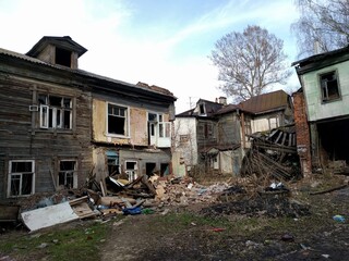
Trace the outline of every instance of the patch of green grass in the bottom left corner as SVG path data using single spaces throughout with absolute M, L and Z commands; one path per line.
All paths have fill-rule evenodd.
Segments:
M 92 261 L 99 258 L 109 224 L 52 227 L 0 241 L 0 252 L 16 260 Z

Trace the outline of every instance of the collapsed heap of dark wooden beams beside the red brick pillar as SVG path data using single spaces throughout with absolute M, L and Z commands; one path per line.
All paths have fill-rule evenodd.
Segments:
M 294 126 L 251 135 L 251 149 L 243 158 L 240 174 L 297 179 L 301 175 Z

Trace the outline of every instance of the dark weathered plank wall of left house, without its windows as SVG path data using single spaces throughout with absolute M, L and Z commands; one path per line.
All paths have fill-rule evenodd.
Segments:
M 72 129 L 43 129 L 37 104 L 38 94 L 72 98 Z M 10 160 L 35 160 L 35 192 L 55 190 L 59 160 L 77 161 L 77 185 L 92 169 L 89 92 L 64 85 L 0 75 L 0 198 L 7 196 Z

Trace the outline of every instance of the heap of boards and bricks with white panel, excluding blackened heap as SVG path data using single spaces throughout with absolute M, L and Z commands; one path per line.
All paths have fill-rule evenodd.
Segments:
M 20 219 L 29 231 L 36 231 L 81 219 L 149 214 L 164 211 L 165 207 L 215 202 L 228 187 L 226 183 L 205 187 L 189 177 L 168 179 L 144 175 L 128 182 L 109 176 L 105 183 L 89 177 L 81 189 L 37 194 L 20 200 Z

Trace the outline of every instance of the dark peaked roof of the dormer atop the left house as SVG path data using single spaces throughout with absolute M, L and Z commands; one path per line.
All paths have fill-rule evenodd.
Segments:
M 63 47 L 64 49 L 75 51 L 79 57 L 84 54 L 87 49 L 73 41 L 70 36 L 44 36 L 27 53 L 26 55 L 36 58 L 48 45 Z

